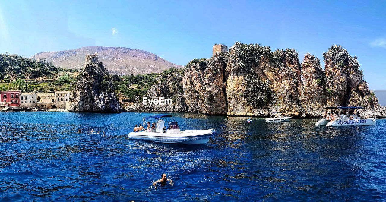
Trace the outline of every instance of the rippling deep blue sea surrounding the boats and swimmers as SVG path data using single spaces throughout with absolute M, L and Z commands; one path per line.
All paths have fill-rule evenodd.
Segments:
M 205 145 L 130 140 L 149 115 L 1 112 L 0 200 L 386 200 L 384 119 L 324 127 L 174 113 L 182 130 L 217 134 Z M 173 186 L 154 188 L 163 173 Z

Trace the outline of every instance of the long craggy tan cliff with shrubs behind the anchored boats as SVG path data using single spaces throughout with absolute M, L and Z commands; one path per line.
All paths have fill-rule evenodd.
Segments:
M 356 57 L 341 46 L 332 46 L 323 57 L 325 69 L 308 53 L 300 64 L 294 49 L 271 52 L 267 46 L 237 42 L 227 53 L 193 60 L 183 75 L 168 78 L 183 77 L 183 96 L 175 91 L 171 95 L 165 89 L 176 86 L 161 80 L 148 91 L 150 98 L 178 98 L 173 106 L 149 108 L 136 102 L 131 109 L 245 116 L 283 111 L 294 117 L 319 117 L 326 106 L 355 105 L 366 108 L 363 114 L 386 117 Z

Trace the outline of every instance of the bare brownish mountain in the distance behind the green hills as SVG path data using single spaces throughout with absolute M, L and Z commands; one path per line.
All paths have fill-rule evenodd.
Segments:
M 61 68 L 78 70 L 85 63 L 85 56 L 98 53 L 99 60 L 111 75 L 137 75 L 146 73 L 161 73 L 171 67 L 182 68 L 165 59 L 139 49 L 88 46 L 74 50 L 37 53 L 32 58 L 46 58 L 52 65 Z

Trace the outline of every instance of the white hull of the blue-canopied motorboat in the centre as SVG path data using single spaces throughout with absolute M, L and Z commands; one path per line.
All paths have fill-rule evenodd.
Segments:
M 159 143 L 206 144 L 215 132 L 215 129 L 180 131 L 179 133 L 130 132 L 129 139 Z

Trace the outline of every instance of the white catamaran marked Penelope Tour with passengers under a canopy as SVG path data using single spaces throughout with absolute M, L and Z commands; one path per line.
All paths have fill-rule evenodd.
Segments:
M 363 107 L 326 107 L 325 109 L 339 109 L 342 110 L 340 115 L 324 115 L 323 119 L 320 119 L 315 123 L 315 126 L 370 126 L 376 124 L 376 118 L 361 117 L 358 114 L 353 114 L 353 110 L 364 109 Z M 343 110 L 347 110 L 346 114 Z

